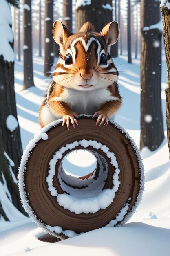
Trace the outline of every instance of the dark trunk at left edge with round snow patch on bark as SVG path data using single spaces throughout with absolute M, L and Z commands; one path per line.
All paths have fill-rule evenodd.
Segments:
M 9 117 L 12 115 L 13 117 Z M 14 90 L 14 63 L 4 61 L 3 56 L 0 57 L 0 130 L 3 135 L 4 150 L 9 157 L 13 160 L 15 166 L 13 173 L 17 177 L 18 167 L 22 156 L 22 145 L 20 140 L 19 126 L 11 131 L 7 128 L 7 117 L 18 122 L 15 102 Z M 10 119 L 9 119 L 10 120 Z M 14 121 L 15 121 L 14 120 Z M 13 125 L 13 124 L 11 124 Z

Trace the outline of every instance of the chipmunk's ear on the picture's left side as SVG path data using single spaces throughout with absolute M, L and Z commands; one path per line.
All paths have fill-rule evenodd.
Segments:
M 70 34 L 68 28 L 62 24 L 59 20 L 56 20 L 53 24 L 53 38 L 57 44 L 62 48 Z

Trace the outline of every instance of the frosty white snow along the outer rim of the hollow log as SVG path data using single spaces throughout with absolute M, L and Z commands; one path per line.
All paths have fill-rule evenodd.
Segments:
M 92 117 L 92 115 L 79 115 L 79 117 Z M 24 153 L 23 153 L 21 161 L 20 161 L 20 167 L 19 167 L 19 173 L 18 173 L 18 186 L 19 186 L 20 197 L 21 197 L 21 202 L 23 204 L 23 207 L 24 207 L 25 211 L 29 214 L 29 216 L 31 218 L 33 218 L 33 221 L 38 226 L 40 226 L 42 229 L 44 229 L 46 232 L 51 234 L 52 236 L 56 236 L 57 238 L 60 238 L 60 239 L 63 240 L 63 239 L 66 238 L 64 234 L 56 234 L 55 232 L 50 231 L 46 227 L 46 224 L 44 224 L 42 222 L 42 220 L 40 220 L 38 218 L 38 216 L 36 216 L 35 212 L 31 208 L 31 205 L 29 204 L 29 200 L 27 199 L 27 195 L 26 195 L 26 191 L 25 191 L 25 184 L 24 184 L 24 174 L 25 174 L 25 171 L 26 171 L 26 164 L 27 164 L 28 159 L 31 155 L 32 149 L 37 145 L 38 141 L 42 138 L 42 134 L 48 132 L 51 128 L 53 128 L 53 127 L 57 126 L 58 124 L 62 123 L 62 121 L 63 121 L 63 119 L 53 121 L 51 124 L 42 128 L 40 130 L 40 132 L 34 136 L 34 139 L 29 141 L 29 144 L 26 146 L 26 149 L 24 150 Z M 137 148 L 137 146 L 135 144 L 135 141 L 130 137 L 128 132 L 126 132 L 126 130 L 124 130 L 124 128 L 122 128 L 119 124 L 117 124 L 113 120 L 109 119 L 109 122 L 111 124 L 113 124 L 115 126 L 115 128 L 120 130 L 121 133 L 124 134 L 124 136 L 130 140 L 130 143 L 131 143 L 133 149 L 135 150 L 135 154 L 137 156 L 137 160 L 138 160 L 138 163 L 139 163 L 139 171 L 140 171 L 140 175 L 141 175 L 140 189 L 139 189 L 139 193 L 137 195 L 137 199 L 135 201 L 135 204 L 132 206 L 131 210 L 126 214 L 125 218 L 121 221 L 121 223 L 117 225 L 117 226 L 119 226 L 119 225 L 125 224 L 132 217 L 133 213 L 135 213 L 135 211 L 137 209 L 137 206 L 139 205 L 139 203 L 141 201 L 141 197 L 142 197 L 142 194 L 143 194 L 143 191 L 144 191 L 144 166 L 143 166 L 143 163 L 142 163 L 142 159 L 141 159 L 139 149 Z M 111 224 L 111 223 L 109 223 L 109 224 Z

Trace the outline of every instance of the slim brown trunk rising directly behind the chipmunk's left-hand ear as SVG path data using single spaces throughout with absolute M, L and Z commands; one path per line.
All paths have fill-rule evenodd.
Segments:
M 72 32 L 72 0 L 63 0 L 62 23 Z

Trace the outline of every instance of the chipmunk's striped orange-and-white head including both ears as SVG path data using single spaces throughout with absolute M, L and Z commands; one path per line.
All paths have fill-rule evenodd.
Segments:
M 110 46 L 119 35 L 117 22 L 108 23 L 101 33 L 86 22 L 79 33 L 70 34 L 60 22 L 53 25 L 53 38 L 60 45 L 60 58 L 53 72 L 56 83 L 75 90 L 106 88 L 117 80 L 118 72 Z

